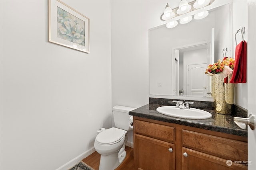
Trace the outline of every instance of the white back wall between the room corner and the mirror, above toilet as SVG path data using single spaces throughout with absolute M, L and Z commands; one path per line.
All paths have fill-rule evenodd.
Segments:
M 162 24 L 159 16 L 167 2 L 111 1 L 112 107 L 148 104 L 148 29 Z M 127 136 L 132 146 L 133 132 Z

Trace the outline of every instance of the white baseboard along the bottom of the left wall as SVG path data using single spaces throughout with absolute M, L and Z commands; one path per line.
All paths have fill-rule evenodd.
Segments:
M 84 158 L 86 158 L 87 156 L 89 156 L 90 154 L 92 154 L 95 151 L 96 150 L 94 149 L 94 147 L 92 147 L 91 149 L 89 149 L 89 150 L 83 152 L 82 154 L 76 156 L 76 158 L 70 160 L 66 164 L 60 166 L 60 168 L 58 168 L 56 170 L 68 170 L 69 168 L 72 168 L 74 165 L 78 164 L 81 160 L 83 160 Z

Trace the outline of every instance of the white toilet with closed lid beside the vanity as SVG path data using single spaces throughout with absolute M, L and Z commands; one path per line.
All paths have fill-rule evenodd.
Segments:
M 131 115 L 128 114 L 136 108 L 126 106 L 114 106 L 113 116 L 116 127 L 104 130 L 97 135 L 94 148 L 100 154 L 99 170 L 114 170 L 126 156 L 125 144 L 127 142 L 126 132 L 132 130 L 129 127 Z

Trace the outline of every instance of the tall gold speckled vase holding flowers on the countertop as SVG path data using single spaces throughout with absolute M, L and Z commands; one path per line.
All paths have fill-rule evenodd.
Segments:
M 234 104 L 233 84 L 230 83 L 232 74 L 228 75 L 228 82 L 220 74 L 212 76 L 212 97 L 214 98 L 214 111 L 220 114 L 231 114 Z

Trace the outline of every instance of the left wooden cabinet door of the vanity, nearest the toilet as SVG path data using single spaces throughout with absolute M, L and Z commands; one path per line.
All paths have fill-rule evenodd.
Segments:
M 139 170 L 175 170 L 174 144 L 135 134 L 134 163 Z

